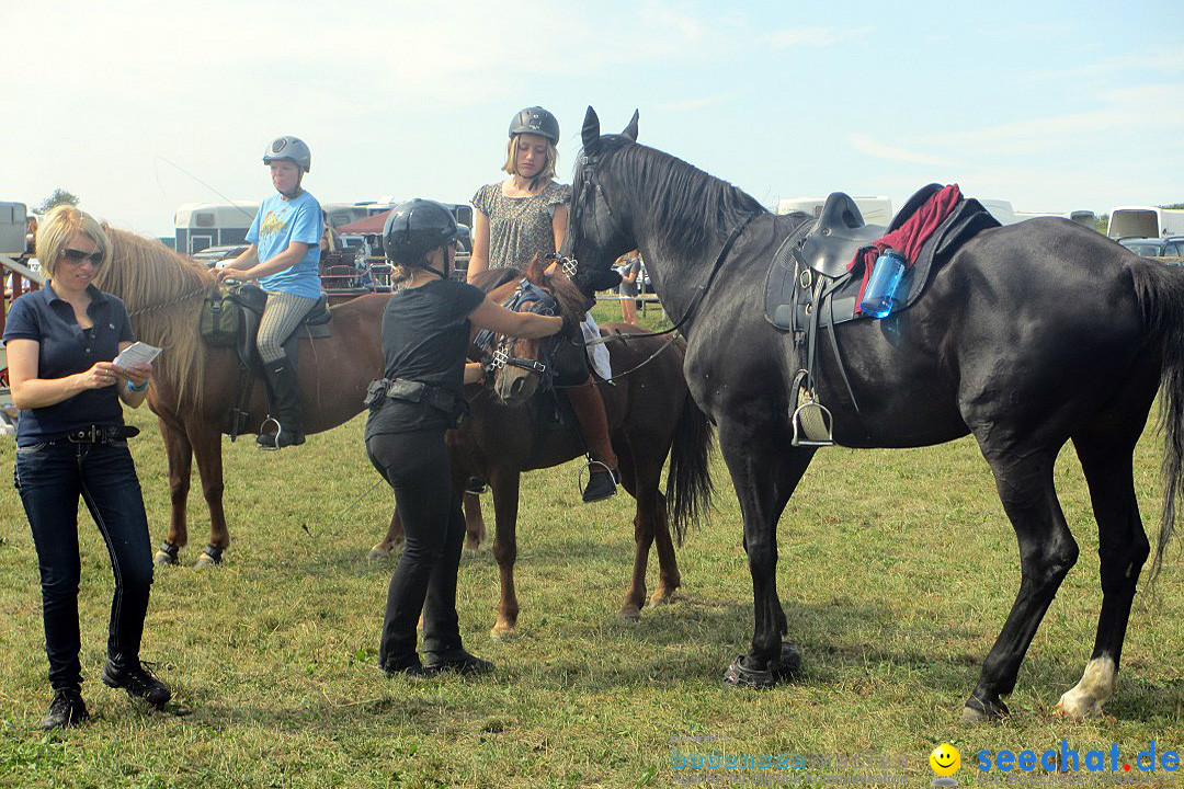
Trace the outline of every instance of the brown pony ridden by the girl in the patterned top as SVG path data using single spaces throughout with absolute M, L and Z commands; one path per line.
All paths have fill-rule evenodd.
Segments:
M 503 293 L 502 283 L 510 279 L 513 284 L 521 276 L 516 270 L 490 271 L 484 280 L 485 290 L 496 289 L 490 296 L 497 299 Z M 584 313 L 585 298 L 565 276 L 547 280 L 536 269 L 529 276 L 552 292 L 564 315 L 572 315 L 573 310 L 578 310 L 577 315 Z M 670 526 L 681 542 L 687 525 L 708 509 L 712 496 L 708 454 L 713 431 L 683 380 L 686 344 L 681 339 L 668 344 L 668 341 L 652 337 L 629 337 L 645 330 L 623 323 L 606 324 L 603 330 L 605 335 L 623 337 L 607 344 L 613 370 L 625 375 L 612 384 L 599 382 L 598 386 L 612 431 L 613 451 L 620 463 L 622 484 L 636 500 L 633 574 L 620 616 L 637 619 L 645 604 L 645 569 L 655 542 L 658 588 L 650 601 L 655 604 L 669 602 L 680 586 Z M 558 358 L 558 363 L 564 364 L 565 356 L 584 353 L 583 345 L 568 341 L 559 341 L 559 347 L 547 353 L 546 343 L 515 341 L 508 345 L 509 356 L 522 362 Z M 575 363 L 581 364 L 578 360 Z M 586 452 L 562 395 L 554 389 L 536 390 L 538 383 L 536 371 L 513 363 L 502 367 L 470 400 L 470 413 L 462 426 L 448 433 L 456 489 L 463 490 L 470 477 L 481 477 L 489 480 L 493 490 L 494 557 L 501 580 L 494 636 L 514 635 L 517 626 L 514 562 L 517 558 L 521 474 L 556 466 Z M 663 494 L 658 485 L 667 455 L 670 455 L 670 468 Z M 472 545 L 481 528 L 480 499 L 466 496 L 465 504 L 469 544 Z M 372 556 L 390 554 L 400 542 L 401 529 L 395 520 L 386 538 L 374 547 Z

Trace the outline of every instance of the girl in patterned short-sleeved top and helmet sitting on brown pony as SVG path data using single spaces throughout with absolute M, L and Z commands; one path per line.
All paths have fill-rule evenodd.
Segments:
M 555 183 L 559 121 L 541 106 L 528 106 L 510 121 L 502 170 L 509 177 L 488 183 L 472 196 L 472 254 L 469 282 L 488 269 L 526 269 L 535 254 L 554 253 L 567 232 L 567 203 L 572 188 Z M 585 338 L 599 338 L 591 315 L 583 326 Z M 609 351 L 594 345 L 597 369 L 612 377 Z M 617 492 L 619 472 L 612 450 L 604 400 L 591 373 L 581 384 L 564 390 L 579 421 L 588 448 L 590 473 L 585 502 L 599 502 Z M 480 485 L 480 480 L 476 480 Z

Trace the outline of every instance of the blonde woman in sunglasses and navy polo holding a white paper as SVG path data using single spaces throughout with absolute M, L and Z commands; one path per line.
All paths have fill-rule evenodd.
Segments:
M 4 332 L 12 400 L 20 409 L 13 480 L 37 548 L 53 687 L 43 729 L 88 718 L 78 658 L 79 497 L 115 574 L 102 680 L 155 707 L 172 698 L 140 662 L 152 547 L 127 441 L 139 431 L 124 426 L 120 403 L 137 408 L 144 401 L 152 367 L 112 363 L 134 338 L 123 302 L 91 284 L 110 250 L 89 214 L 72 206 L 51 211 L 37 235 L 49 280 L 13 303 Z

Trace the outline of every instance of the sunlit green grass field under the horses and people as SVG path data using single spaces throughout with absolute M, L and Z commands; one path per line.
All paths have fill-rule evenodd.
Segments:
M 134 454 L 156 544 L 168 519 L 165 454 L 147 410 L 130 421 L 144 428 Z M 719 679 L 751 638 L 752 593 L 718 458 L 718 511 L 678 554 L 684 586 L 674 604 L 618 621 L 631 499 L 583 505 L 575 465 L 535 472 L 519 528 L 521 638 L 488 636 L 497 601 L 488 548 L 461 568 L 466 645 L 498 671 L 425 683 L 380 675 L 392 565 L 366 554 L 392 497 L 375 486 L 361 431 L 359 418 L 278 454 L 226 444 L 226 564 L 159 570 L 153 589 L 144 658 L 175 691 L 166 713 L 98 681 L 110 564 L 84 516 L 83 692 L 95 718 L 52 735 L 36 730 L 50 699 L 37 560 L 15 492 L 0 486 L 0 787 L 661 787 L 704 772 L 673 769 L 676 750 L 713 749 L 813 759 L 874 751 L 907 785 L 928 785 L 928 754 L 941 742 L 961 751 L 954 777 L 966 785 L 980 780 L 973 755 L 983 749 L 1038 754 L 1064 738 L 1082 755 L 1117 744 L 1130 761 L 1152 741 L 1160 754 L 1184 746 L 1179 545 L 1158 601 L 1137 602 L 1108 714 L 1079 724 L 1053 716 L 1088 659 L 1101 599 L 1096 529 L 1072 450 L 1056 476 L 1081 558 L 1029 652 L 1012 717 L 965 726 L 963 703 L 1019 580 L 1012 530 L 969 440 L 818 453 L 780 525 L 778 578 L 804 677 L 735 692 Z M 1159 453 L 1148 429 L 1137 480 L 1151 524 Z M 0 440 L 6 474 L 12 454 L 12 440 Z M 187 565 L 206 539 L 200 496 L 189 512 Z M 861 775 L 835 765 L 727 775 L 821 783 L 839 774 Z M 1159 775 L 1162 785 L 1180 783 Z

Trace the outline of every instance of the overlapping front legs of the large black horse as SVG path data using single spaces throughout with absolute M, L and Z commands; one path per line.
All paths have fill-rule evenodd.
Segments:
M 777 522 L 810 466 L 815 450 L 790 447 L 790 439 L 768 425 L 720 422 L 720 448 L 732 476 L 744 517 L 744 547 L 752 575 L 752 648 L 723 674 L 732 687 L 768 687 L 783 668 L 785 610 L 777 595 Z M 790 645 L 784 645 L 792 651 Z M 796 652 L 796 651 L 793 651 Z

